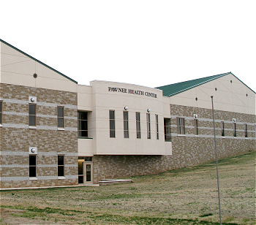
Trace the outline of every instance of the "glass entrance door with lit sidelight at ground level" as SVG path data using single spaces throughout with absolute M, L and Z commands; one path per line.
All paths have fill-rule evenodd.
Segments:
M 78 160 L 78 183 L 93 183 L 93 163 Z

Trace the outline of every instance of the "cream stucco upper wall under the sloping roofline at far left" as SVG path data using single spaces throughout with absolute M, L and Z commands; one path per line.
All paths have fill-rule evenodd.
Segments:
M 0 42 L 1 83 L 77 92 L 77 84 L 29 56 Z M 37 78 L 34 78 L 37 73 Z

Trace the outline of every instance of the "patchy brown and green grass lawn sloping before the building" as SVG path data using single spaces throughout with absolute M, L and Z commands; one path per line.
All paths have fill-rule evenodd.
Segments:
M 134 183 L 1 191 L 0 224 L 219 224 L 215 162 Z M 222 224 L 255 222 L 255 152 L 219 160 Z

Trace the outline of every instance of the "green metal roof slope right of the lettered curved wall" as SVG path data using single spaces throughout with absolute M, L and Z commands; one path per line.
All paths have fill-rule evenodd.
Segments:
M 211 80 L 215 80 L 215 79 L 218 79 L 219 77 L 223 77 L 225 75 L 228 75 L 230 73 L 231 72 L 227 72 L 227 73 L 221 74 L 221 75 L 203 77 L 203 78 L 199 78 L 199 79 L 195 79 L 195 80 L 184 81 L 184 82 L 181 82 L 181 83 L 173 83 L 173 84 L 170 84 L 170 85 L 157 87 L 157 89 L 162 90 L 162 95 L 163 96 L 173 96 L 173 95 L 179 94 L 183 91 L 187 91 L 191 88 L 195 88 L 195 87 L 197 87 L 199 85 L 202 85 L 204 83 L 208 83 Z

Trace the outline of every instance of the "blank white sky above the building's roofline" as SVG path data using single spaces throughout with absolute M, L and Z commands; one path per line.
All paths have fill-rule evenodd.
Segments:
M 0 39 L 83 85 L 232 72 L 256 91 L 256 1 L 0 0 Z

